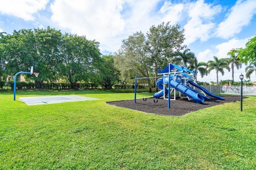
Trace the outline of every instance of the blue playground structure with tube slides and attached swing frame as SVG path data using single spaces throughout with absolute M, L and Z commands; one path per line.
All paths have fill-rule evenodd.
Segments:
M 159 79 L 156 81 L 156 86 L 161 89 L 156 92 L 153 97 L 155 99 L 163 98 L 166 99 L 168 95 L 168 108 L 170 108 L 170 100 L 176 100 L 176 93 L 181 93 L 186 95 L 188 100 L 193 100 L 196 103 L 204 103 L 204 100 L 210 100 L 207 95 L 214 97 L 219 100 L 224 100 L 223 97 L 214 95 L 198 85 L 195 81 L 196 73 L 190 71 L 186 67 L 180 67 L 178 65 L 169 63 L 162 71 L 158 70 Z M 144 77 L 144 78 L 154 78 L 154 77 Z M 137 79 L 144 79 L 135 77 L 135 96 L 134 103 L 136 103 L 136 83 Z M 168 85 L 168 87 L 166 87 Z M 193 88 L 193 87 L 194 88 Z M 195 87 L 200 89 L 201 92 L 196 91 Z M 171 99 L 171 94 L 174 93 L 173 99 Z

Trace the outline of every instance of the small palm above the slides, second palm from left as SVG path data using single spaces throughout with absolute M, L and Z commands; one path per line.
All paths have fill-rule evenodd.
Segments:
M 195 57 L 192 63 L 188 66 L 188 69 L 194 70 L 194 73 L 198 73 L 199 71 L 199 73 L 201 74 L 201 77 L 203 78 L 204 75 L 208 74 L 206 67 L 203 67 L 203 66 L 207 67 L 207 63 L 205 62 L 198 63 L 197 58 Z M 196 75 L 196 81 L 197 81 L 197 75 Z

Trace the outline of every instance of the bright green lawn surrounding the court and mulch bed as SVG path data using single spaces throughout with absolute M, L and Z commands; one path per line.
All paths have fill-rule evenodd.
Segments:
M 28 106 L 18 97 L 102 100 Z M 142 94 L 138 94 L 142 97 Z M 0 169 L 256 169 L 255 96 L 182 117 L 106 105 L 134 93 L 0 91 Z M 167 106 L 166 106 L 167 107 Z

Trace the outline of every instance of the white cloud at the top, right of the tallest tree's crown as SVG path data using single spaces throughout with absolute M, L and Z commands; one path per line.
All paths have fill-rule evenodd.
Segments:
M 212 20 L 216 14 L 221 12 L 222 7 L 220 5 L 212 6 L 212 4 L 204 3 L 204 0 L 198 0 L 186 4 L 186 9 L 190 20 L 184 26 L 185 43 L 189 45 L 198 39 L 207 41 L 216 25 Z

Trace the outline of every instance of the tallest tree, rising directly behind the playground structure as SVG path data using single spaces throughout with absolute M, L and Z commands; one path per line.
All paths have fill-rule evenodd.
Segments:
M 164 68 L 168 61 L 167 57 L 171 57 L 174 52 L 186 48 L 182 45 L 185 40 L 184 29 L 180 31 L 180 25 L 171 26 L 170 22 L 152 26 L 147 32 L 147 45 L 149 55 L 154 67 L 155 76 L 158 69 Z

